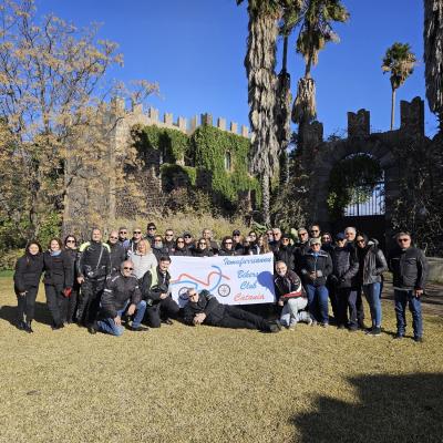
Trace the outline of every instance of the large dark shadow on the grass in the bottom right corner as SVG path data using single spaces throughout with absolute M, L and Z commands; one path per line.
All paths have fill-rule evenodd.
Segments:
M 359 400 L 319 396 L 296 415 L 297 442 L 442 442 L 443 373 L 351 378 Z

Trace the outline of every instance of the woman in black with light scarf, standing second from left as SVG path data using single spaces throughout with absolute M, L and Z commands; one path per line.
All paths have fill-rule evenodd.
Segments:
M 44 292 L 47 305 L 52 317 L 52 329 L 63 328 L 63 313 L 68 311 L 69 296 L 72 292 L 72 261 L 69 254 L 62 250 L 62 243 L 52 238 L 49 250 L 43 254 Z

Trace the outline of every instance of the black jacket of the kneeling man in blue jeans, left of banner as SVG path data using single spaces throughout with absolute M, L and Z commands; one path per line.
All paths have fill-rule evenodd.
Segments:
M 102 318 L 115 318 L 127 300 L 137 305 L 142 299 L 138 280 L 135 276 L 124 277 L 121 274 L 106 278 L 106 286 L 101 299 Z

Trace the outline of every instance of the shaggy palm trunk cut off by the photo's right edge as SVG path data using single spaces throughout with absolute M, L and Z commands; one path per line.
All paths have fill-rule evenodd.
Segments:
M 443 0 L 424 0 L 426 99 L 443 133 Z

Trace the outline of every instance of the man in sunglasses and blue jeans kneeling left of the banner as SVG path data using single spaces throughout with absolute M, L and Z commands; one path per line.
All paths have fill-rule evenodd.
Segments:
M 147 331 L 142 328 L 141 322 L 145 315 L 146 301 L 142 300 L 138 280 L 132 275 L 134 265 L 131 260 L 122 262 L 121 270 L 116 276 L 107 277 L 103 292 L 99 321 L 89 328 L 91 333 L 102 331 L 112 336 L 122 336 L 122 316 L 126 311 L 134 317 L 131 329 L 133 331 Z

